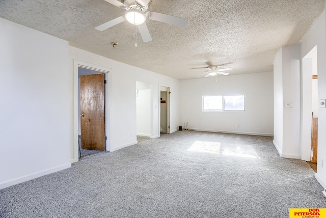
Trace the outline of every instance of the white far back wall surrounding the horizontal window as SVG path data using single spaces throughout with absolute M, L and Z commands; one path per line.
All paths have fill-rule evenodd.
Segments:
M 188 128 L 273 135 L 273 72 L 181 80 L 179 125 Z M 203 112 L 203 95 L 245 95 L 245 111 Z M 238 127 L 239 126 L 239 127 Z

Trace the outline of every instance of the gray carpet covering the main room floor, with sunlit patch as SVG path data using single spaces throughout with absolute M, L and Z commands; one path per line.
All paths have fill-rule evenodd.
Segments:
M 178 131 L 0 190 L 0 217 L 288 217 L 326 206 L 271 137 Z

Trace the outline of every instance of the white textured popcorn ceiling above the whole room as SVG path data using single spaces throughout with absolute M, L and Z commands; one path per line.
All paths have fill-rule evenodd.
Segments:
M 124 14 L 104 0 L 0 0 L 0 17 L 69 41 L 98 55 L 177 79 L 204 77 L 211 65 L 230 75 L 273 71 L 281 46 L 296 44 L 324 9 L 324 0 L 152 0 L 148 11 L 188 19 L 185 28 L 146 20 L 151 42 L 127 21 L 98 26 Z M 118 42 L 114 49 L 111 42 Z M 222 75 L 221 75 L 222 76 Z

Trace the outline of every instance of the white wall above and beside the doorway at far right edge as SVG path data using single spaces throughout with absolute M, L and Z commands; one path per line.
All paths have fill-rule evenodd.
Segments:
M 326 3 L 326 1 L 325 1 Z M 326 5 L 326 4 L 325 4 Z M 318 98 L 326 99 L 325 11 L 301 40 L 301 58 L 317 45 Z M 326 188 L 326 108 L 318 108 L 318 156 L 316 179 Z M 324 163 L 323 163 L 324 162 Z

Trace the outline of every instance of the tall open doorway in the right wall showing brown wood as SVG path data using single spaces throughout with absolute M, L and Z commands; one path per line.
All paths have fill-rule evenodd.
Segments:
M 314 166 L 317 168 L 317 78 L 317 46 L 315 46 L 302 60 L 302 159 L 311 162 L 312 168 L 314 168 Z

